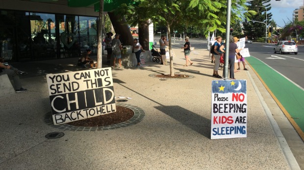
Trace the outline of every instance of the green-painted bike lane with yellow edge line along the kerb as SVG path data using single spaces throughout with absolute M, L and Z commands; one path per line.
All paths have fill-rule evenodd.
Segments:
M 255 57 L 245 59 L 304 141 L 304 90 Z

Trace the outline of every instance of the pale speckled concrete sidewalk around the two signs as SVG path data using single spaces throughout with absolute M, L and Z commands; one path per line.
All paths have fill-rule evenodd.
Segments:
M 155 62 L 112 70 L 115 96 L 131 98 L 121 105 L 140 108 L 145 117 L 132 126 L 111 130 L 75 131 L 47 121 L 51 106 L 45 75 L 85 69 L 75 66 L 77 59 L 16 64 L 29 72 L 22 78 L 28 91 L 0 98 L 0 169 L 300 169 L 294 156 L 280 147 L 275 133 L 279 129 L 270 123 L 248 71 L 235 74 L 236 79 L 247 80 L 247 138 L 211 140 L 211 81 L 216 78 L 208 51 L 195 49 L 197 54 L 190 55 L 194 64 L 187 67 L 182 66 L 182 50 L 174 51 L 175 73 L 193 78 L 149 76 L 170 72 L 169 65 Z M 65 135 L 45 138 L 56 131 Z

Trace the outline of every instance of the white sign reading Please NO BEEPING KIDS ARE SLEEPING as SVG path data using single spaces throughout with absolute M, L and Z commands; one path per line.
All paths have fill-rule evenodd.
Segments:
M 212 81 L 211 139 L 247 137 L 246 80 Z

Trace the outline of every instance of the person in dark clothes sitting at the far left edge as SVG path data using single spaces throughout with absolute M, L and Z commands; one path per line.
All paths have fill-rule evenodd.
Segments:
M 8 78 L 13 79 L 16 92 L 26 91 L 22 88 L 19 75 L 26 75 L 26 72 L 20 71 L 8 64 L 3 64 L 4 60 L 0 58 L 0 75 L 7 74 Z

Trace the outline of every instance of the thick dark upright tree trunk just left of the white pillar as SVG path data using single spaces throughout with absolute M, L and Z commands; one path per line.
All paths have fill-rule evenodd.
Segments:
M 149 20 L 138 23 L 138 41 L 144 50 L 149 50 Z

